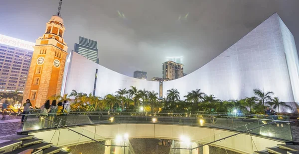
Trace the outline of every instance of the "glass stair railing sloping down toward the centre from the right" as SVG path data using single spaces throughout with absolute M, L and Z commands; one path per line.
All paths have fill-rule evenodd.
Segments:
M 200 148 L 204 151 L 203 147 L 208 145 L 226 147 L 241 153 L 254 153 L 263 149 L 259 149 L 259 145 L 256 143 L 257 140 L 251 135 L 259 134 L 262 137 L 292 141 L 290 129 L 290 123 L 286 121 L 273 121 L 271 118 L 261 119 L 231 131 L 219 131 L 221 133 L 200 140 L 197 139 L 196 142 L 192 142 L 192 136 L 182 136 L 180 140 L 173 141 L 169 154 L 194 154 L 194 151 L 197 153 Z M 237 130 L 245 131 L 233 132 Z M 275 143 L 275 141 L 273 142 Z

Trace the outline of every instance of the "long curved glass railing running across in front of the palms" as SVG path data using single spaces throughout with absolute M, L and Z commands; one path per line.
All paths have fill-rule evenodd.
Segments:
M 39 130 L 54 127 L 51 122 L 42 122 L 38 114 L 28 114 L 22 131 Z M 52 118 L 50 115 L 47 119 Z M 231 115 L 186 114 L 186 113 L 136 113 L 136 112 L 72 112 L 65 119 L 53 116 L 53 120 L 62 120 L 61 125 L 80 126 L 89 124 L 121 124 L 121 123 L 156 123 L 201 126 L 242 132 L 267 123 L 274 124 L 252 130 L 250 133 L 269 138 L 293 141 L 290 119 L 288 116 L 266 116 L 256 118 Z M 64 121 L 65 120 L 65 121 Z M 38 123 L 38 125 L 37 125 Z M 285 132 L 287 135 L 280 135 Z

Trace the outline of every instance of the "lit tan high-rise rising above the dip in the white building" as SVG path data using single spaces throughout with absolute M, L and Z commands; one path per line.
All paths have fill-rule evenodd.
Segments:
M 167 61 L 163 63 L 162 73 L 163 78 L 168 78 L 169 80 L 177 79 L 183 77 L 184 69 L 182 64 L 178 64 L 172 61 Z

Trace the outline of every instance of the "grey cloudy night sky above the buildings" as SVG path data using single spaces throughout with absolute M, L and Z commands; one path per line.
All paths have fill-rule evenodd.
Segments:
M 58 3 L 1 0 L 0 34 L 35 42 Z M 146 71 L 150 79 L 162 77 L 171 56 L 183 56 L 184 72 L 192 73 L 275 12 L 299 49 L 298 6 L 299 0 L 63 0 L 61 17 L 69 51 L 79 36 L 96 40 L 101 65 L 127 76 Z

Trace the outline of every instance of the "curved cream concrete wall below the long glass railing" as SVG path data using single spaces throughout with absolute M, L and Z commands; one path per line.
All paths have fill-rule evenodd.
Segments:
M 209 143 L 214 140 L 236 134 L 234 132 L 217 130 L 212 128 L 179 126 L 179 125 L 163 125 L 163 124 L 111 124 L 111 125 L 92 125 L 70 128 L 80 132 L 95 140 L 115 139 L 118 135 L 129 134 L 129 138 L 156 138 L 156 139 L 174 139 L 179 140 L 180 137 L 189 137 L 193 142 Z M 66 147 L 78 143 L 90 142 L 85 137 L 80 137 L 77 133 L 67 129 L 58 129 L 44 132 L 30 133 L 39 139 L 53 143 L 58 147 Z M 214 143 L 215 146 L 232 149 L 245 154 L 252 154 L 254 151 L 265 150 L 266 147 L 274 147 L 277 144 L 284 144 L 267 138 L 249 136 L 240 134 L 233 136 L 221 142 Z M 100 144 L 99 144 L 100 146 Z

